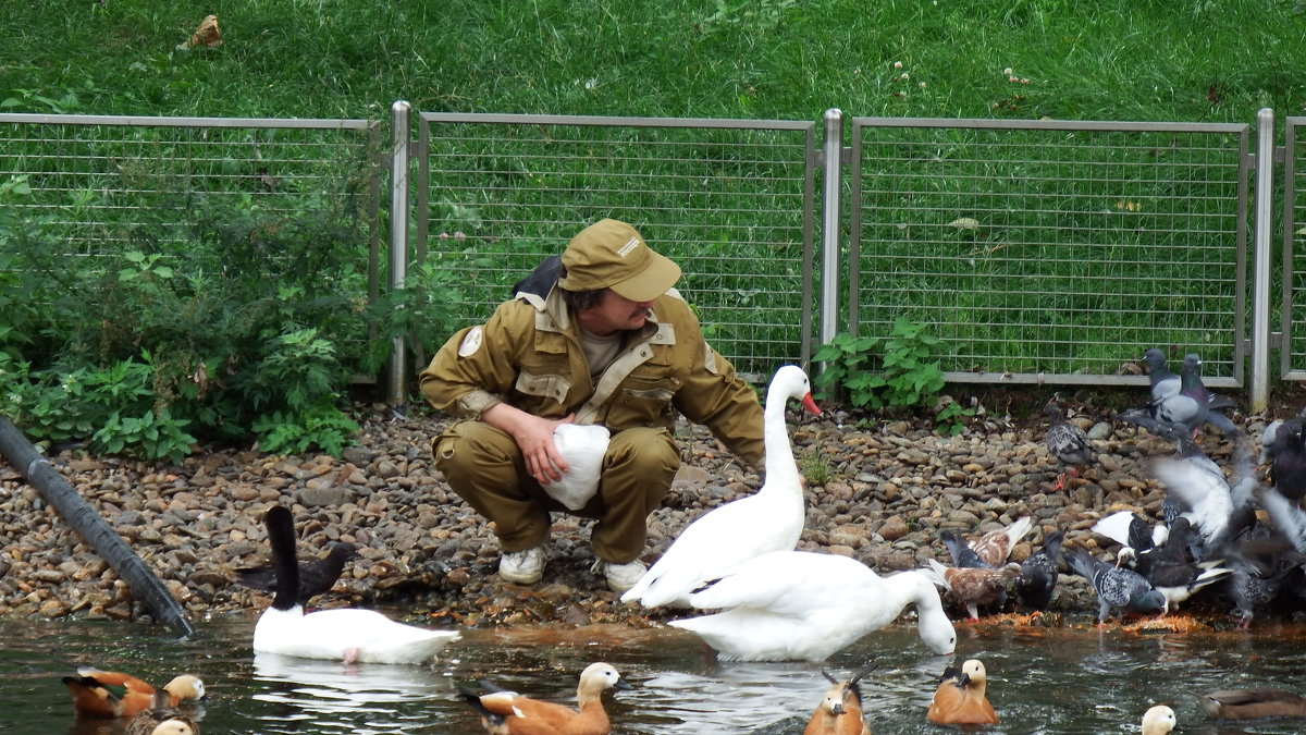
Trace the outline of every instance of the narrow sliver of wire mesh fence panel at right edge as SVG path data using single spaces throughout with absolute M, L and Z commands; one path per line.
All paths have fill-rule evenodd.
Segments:
M 1282 191 L 1282 298 L 1280 328 L 1282 332 L 1280 375 L 1288 381 L 1306 381 L 1306 333 L 1293 327 L 1306 319 L 1306 118 L 1285 120 L 1284 191 Z

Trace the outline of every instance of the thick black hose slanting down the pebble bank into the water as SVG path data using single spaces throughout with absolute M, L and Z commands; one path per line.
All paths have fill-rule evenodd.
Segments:
M 81 534 L 110 566 L 125 581 L 132 590 L 132 596 L 145 602 L 150 613 L 157 620 L 166 623 L 178 636 L 195 633 L 195 626 L 185 619 L 185 611 L 167 587 L 159 582 L 158 577 L 150 572 L 149 566 L 127 541 L 114 531 L 103 518 L 95 513 L 90 505 L 77 493 L 68 480 L 64 480 L 50 462 L 31 446 L 27 437 L 22 436 L 8 419 L 0 416 L 0 455 L 9 464 L 22 472 L 31 487 L 37 488 L 46 502 L 55 506 L 55 510 L 64 517 L 73 528 Z

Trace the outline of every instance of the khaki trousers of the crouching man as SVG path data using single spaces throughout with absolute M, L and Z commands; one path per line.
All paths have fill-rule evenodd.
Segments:
M 492 521 L 507 552 L 549 539 L 549 513 L 594 518 L 594 555 L 626 564 L 644 553 L 648 514 L 671 488 L 680 453 L 666 429 L 627 429 L 613 434 L 603 455 L 598 492 L 580 510 L 549 497 L 526 473 L 517 442 L 482 421 L 460 421 L 431 442 L 435 466 L 453 492 Z

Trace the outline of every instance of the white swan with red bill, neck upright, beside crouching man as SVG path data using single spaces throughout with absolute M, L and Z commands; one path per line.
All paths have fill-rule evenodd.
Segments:
M 763 416 L 767 475 L 761 488 L 713 509 L 680 531 L 661 558 L 622 595 L 623 602 L 639 600 L 649 608 L 687 606 L 695 589 L 735 564 L 794 548 L 803 531 L 806 500 L 785 424 L 785 404 L 790 398 L 802 399 L 807 411 L 820 413 L 801 368 L 785 365 L 776 370 Z

